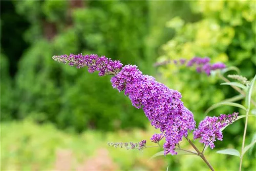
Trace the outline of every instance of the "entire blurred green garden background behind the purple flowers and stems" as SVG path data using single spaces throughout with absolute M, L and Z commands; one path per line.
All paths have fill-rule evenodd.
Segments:
M 144 74 L 179 90 L 198 124 L 208 107 L 238 92 L 220 86 L 222 81 L 214 76 L 154 63 L 208 56 L 211 62 L 239 67 L 251 79 L 256 74 L 255 1 L 0 4 L 1 170 L 208 170 L 195 156 L 148 161 L 161 148 L 140 152 L 108 147 L 108 141 L 141 139 L 151 145 L 158 130 L 112 88 L 110 77 L 59 64 L 52 56 L 94 53 L 136 64 Z M 245 114 L 222 107 L 209 115 L 233 111 Z M 255 121 L 249 118 L 246 144 L 256 135 Z M 243 128 L 243 119 L 229 126 L 216 149 L 240 151 Z M 238 157 L 217 154 L 216 149 L 206 151 L 216 170 L 238 170 Z M 255 151 L 244 156 L 244 170 L 256 169 Z

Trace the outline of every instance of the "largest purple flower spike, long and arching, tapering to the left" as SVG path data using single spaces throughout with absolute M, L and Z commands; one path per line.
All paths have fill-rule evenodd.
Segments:
M 124 91 L 132 105 L 138 109 L 142 108 L 151 125 L 160 129 L 165 137 L 165 155 L 177 154 L 176 145 L 183 136 L 187 137 L 189 130 L 195 129 L 193 113 L 184 107 L 181 93 L 157 82 L 152 76 L 143 75 L 136 65 L 122 67 L 120 61 L 97 55 L 71 54 L 54 56 L 53 59 L 78 68 L 87 66 L 89 72 L 97 70 L 100 76 L 114 75 L 111 78 L 113 88 L 119 92 Z M 131 146 L 134 147 L 132 144 Z

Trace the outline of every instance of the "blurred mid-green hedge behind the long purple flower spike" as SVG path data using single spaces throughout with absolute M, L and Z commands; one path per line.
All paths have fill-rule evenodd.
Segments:
M 17 118 L 31 115 L 38 122 L 50 120 L 58 128 L 75 131 L 144 127 L 143 112 L 113 90 L 110 77 L 99 78 L 86 69 L 63 66 L 51 57 L 95 53 L 151 72 L 148 66 L 153 60 L 145 55 L 144 42 L 148 34 L 147 2 L 13 2 L 17 13 L 30 22 L 24 39 L 31 45 L 18 61 L 13 83 L 15 103 L 3 118 L 7 113 Z M 8 65 L 5 68 L 8 70 Z M 3 105 L 10 105 L 8 102 L 6 99 Z

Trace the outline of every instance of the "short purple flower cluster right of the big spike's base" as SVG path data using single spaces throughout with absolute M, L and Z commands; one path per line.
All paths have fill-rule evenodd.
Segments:
M 201 143 L 210 146 L 211 149 L 215 147 L 214 142 L 216 139 L 222 141 L 222 129 L 232 124 L 236 120 L 238 113 L 234 112 L 233 114 L 225 115 L 221 114 L 219 117 L 210 117 L 206 116 L 202 120 L 196 129 L 194 134 L 194 139 L 200 138 Z

